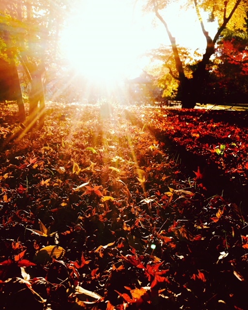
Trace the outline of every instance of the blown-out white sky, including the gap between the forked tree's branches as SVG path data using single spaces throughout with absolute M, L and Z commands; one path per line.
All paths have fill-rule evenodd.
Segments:
M 161 44 L 170 44 L 161 22 L 153 14 L 141 12 L 141 2 L 134 7 L 132 0 L 81 0 L 62 33 L 62 49 L 78 73 L 109 82 L 137 77 L 147 63 L 139 56 Z M 173 4 L 163 16 L 178 44 L 194 49 L 205 47 L 194 11 L 192 18 L 184 22 L 183 12 Z

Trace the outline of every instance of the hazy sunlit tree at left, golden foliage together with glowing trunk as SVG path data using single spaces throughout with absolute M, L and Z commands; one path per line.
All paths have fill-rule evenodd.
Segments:
M 22 81 L 24 85 L 29 84 L 23 90 L 29 93 L 31 125 L 37 119 L 40 126 L 44 124 L 42 74 L 56 58 L 59 31 L 67 13 L 67 0 L 4 0 L 0 3 L 0 58 L 7 62 L 12 59 L 16 66 L 23 67 Z M 22 110 L 21 120 L 24 119 Z

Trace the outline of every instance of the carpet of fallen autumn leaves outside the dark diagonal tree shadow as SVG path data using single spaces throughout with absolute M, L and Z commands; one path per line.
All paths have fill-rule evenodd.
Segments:
M 3 145 L 16 112 L 1 105 L 0 113 Z M 247 309 L 246 216 L 221 195 L 208 197 L 201 172 L 186 175 L 149 130 L 185 140 L 183 118 L 193 116 L 53 103 L 42 131 L 2 147 L 2 309 Z M 221 163 L 233 149 L 246 161 L 243 142 L 215 145 L 189 121 L 192 140 L 206 138 L 202 151 L 219 143 Z

